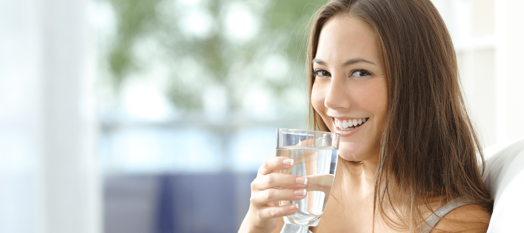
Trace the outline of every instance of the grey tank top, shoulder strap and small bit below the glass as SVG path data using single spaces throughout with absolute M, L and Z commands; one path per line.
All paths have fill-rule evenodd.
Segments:
M 473 202 L 468 199 L 467 197 L 459 197 L 456 199 L 451 200 L 449 203 L 446 203 L 439 209 L 435 211 L 434 214 L 429 216 L 425 222 L 426 224 L 419 227 L 417 230 L 420 233 L 429 233 L 433 227 L 439 223 L 440 218 L 444 217 L 447 213 L 450 213 L 451 210 L 454 210 L 456 208 L 459 208 L 461 206 L 465 206 L 468 204 L 473 204 Z M 280 233 L 312 233 L 309 230 L 308 226 L 303 225 L 294 225 L 294 224 L 284 224 L 284 227 L 282 227 L 282 230 Z

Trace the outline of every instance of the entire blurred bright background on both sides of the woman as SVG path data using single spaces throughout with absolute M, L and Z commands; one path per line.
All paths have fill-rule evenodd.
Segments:
M 0 0 L 0 232 L 236 232 L 325 2 Z M 483 144 L 522 136 L 524 1 L 433 3 Z

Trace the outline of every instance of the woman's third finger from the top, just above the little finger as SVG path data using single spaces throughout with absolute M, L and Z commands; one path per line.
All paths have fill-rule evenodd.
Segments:
M 253 193 L 250 202 L 257 207 L 266 207 L 271 202 L 278 202 L 279 200 L 300 200 L 306 195 L 307 190 L 303 188 L 269 188 Z

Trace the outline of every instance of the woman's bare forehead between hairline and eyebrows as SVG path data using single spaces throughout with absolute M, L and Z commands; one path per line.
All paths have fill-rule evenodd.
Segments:
M 352 16 L 332 17 L 324 24 L 315 58 L 332 62 L 355 58 L 380 62 L 373 30 Z

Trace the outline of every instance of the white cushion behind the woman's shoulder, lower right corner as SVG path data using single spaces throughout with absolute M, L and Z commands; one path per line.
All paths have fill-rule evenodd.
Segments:
M 524 137 L 489 146 L 484 155 L 484 183 L 495 198 L 487 232 L 522 232 Z

